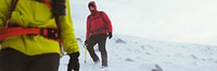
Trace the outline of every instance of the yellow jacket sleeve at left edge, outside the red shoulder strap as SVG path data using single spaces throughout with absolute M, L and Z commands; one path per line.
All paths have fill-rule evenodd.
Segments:
M 9 5 L 11 5 L 11 0 L 0 0 L 0 29 L 3 27 L 3 23 L 9 14 Z

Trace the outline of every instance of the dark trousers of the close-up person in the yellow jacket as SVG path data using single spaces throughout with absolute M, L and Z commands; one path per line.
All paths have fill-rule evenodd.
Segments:
M 58 71 L 60 55 L 27 56 L 13 48 L 0 51 L 0 71 Z

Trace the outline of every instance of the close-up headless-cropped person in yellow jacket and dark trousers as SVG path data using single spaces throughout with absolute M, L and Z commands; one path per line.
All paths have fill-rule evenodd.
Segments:
M 69 0 L 18 0 L 9 25 L 5 25 L 12 1 L 16 0 L 0 0 L 0 30 L 5 26 L 43 28 L 48 32 L 44 34 L 58 30 L 64 51 L 71 57 L 68 71 L 79 71 L 79 47 L 71 18 Z M 50 38 L 55 33 L 50 33 L 20 34 L 0 41 L 0 71 L 58 71 L 61 48 L 59 42 Z

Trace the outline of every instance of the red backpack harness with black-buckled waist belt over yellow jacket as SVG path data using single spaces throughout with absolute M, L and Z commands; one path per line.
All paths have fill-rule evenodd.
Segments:
M 37 1 L 37 0 L 36 0 Z M 18 0 L 12 0 L 11 1 L 11 6 L 9 10 L 9 15 L 7 16 L 5 20 L 5 26 L 0 29 L 0 42 L 7 38 L 10 37 L 15 37 L 15 36 L 21 36 L 21 34 L 40 34 L 42 37 L 46 37 L 48 39 L 52 39 L 54 41 L 58 41 L 62 43 L 60 39 L 60 22 L 59 16 L 55 16 L 55 22 L 56 22 L 56 28 L 25 28 L 25 27 L 10 27 L 10 20 L 12 16 L 12 12 L 16 8 Z

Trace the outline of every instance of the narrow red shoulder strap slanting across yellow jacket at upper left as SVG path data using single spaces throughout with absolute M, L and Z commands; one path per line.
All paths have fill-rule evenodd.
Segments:
M 16 4 L 17 4 L 18 0 L 12 0 L 11 1 L 11 8 L 9 10 L 9 16 L 7 16 L 7 24 L 4 26 L 4 28 L 8 28 L 9 27 L 9 24 L 10 24 L 10 20 L 11 20 L 11 15 L 12 15 L 12 12 L 14 11 L 14 9 L 16 8 Z

